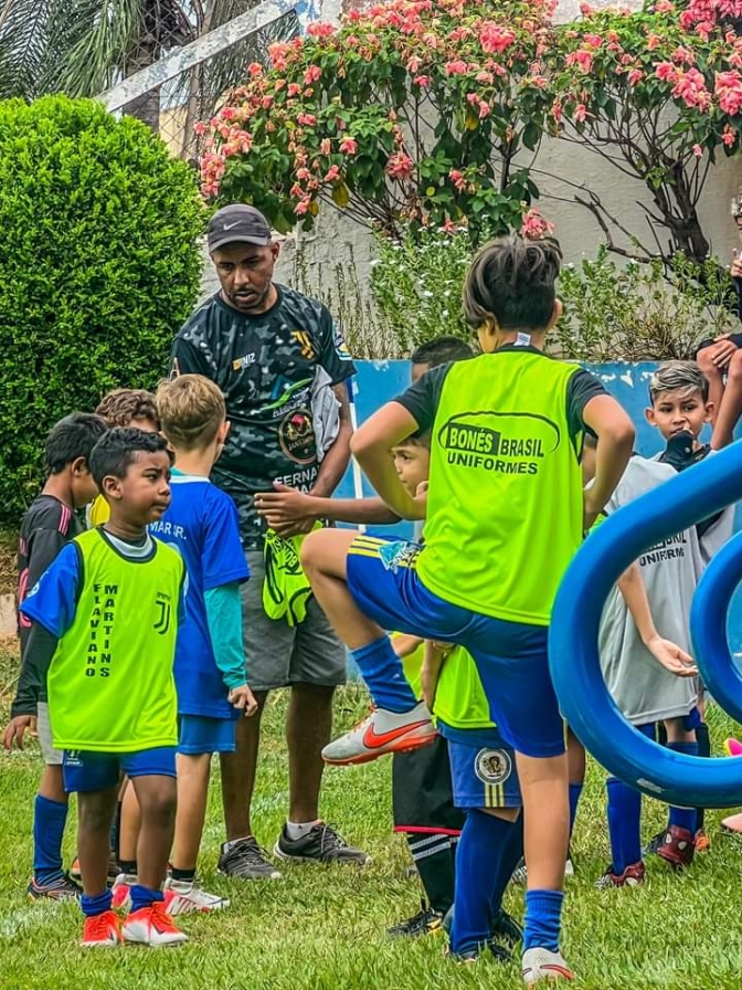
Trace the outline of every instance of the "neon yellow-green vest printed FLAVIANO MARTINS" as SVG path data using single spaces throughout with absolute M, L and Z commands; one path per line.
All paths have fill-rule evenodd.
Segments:
M 83 587 L 47 678 L 54 746 L 98 752 L 174 746 L 182 558 L 158 539 L 149 559 L 123 557 L 97 529 L 74 543 Z

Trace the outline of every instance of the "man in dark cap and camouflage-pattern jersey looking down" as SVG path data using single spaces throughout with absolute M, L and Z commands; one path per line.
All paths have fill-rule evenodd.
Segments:
M 242 586 L 245 656 L 259 704 L 257 715 L 236 724 L 236 752 L 222 754 L 227 841 L 219 868 L 245 880 L 280 876 L 254 836 L 250 805 L 263 705 L 269 691 L 284 686 L 292 687 L 286 725 L 289 817 L 274 852 L 279 859 L 363 864 L 365 853 L 318 818 L 320 752 L 330 740 L 332 695 L 344 681 L 346 653 L 314 599 L 295 625 L 266 615 L 265 524 L 254 504 L 256 493 L 276 484 L 332 494 L 350 457 L 346 381 L 354 368 L 327 308 L 274 283 L 279 245 L 261 212 L 244 204 L 224 207 L 211 219 L 208 243 L 221 289 L 178 334 L 172 373 L 204 375 L 226 400 L 232 428 L 212 477 L 234 498 L 240 514 L 252 575 Z M 329 430 L 318 422 L 320 378 L 337 400 L 329 396 Z M 297 536 L 311 527 L 311 520 L 297 519 L 280 535 Z

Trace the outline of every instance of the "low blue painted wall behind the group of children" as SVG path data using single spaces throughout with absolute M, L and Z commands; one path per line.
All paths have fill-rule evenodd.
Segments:
M 657 430 L 650 426 L 644 415 L 648 404 L 648 383 L 656 365 L 586 365 L 606 389 L 616 397 L 629 413 L 636 425 L 636 449 L 645 456 L 656 454 L 662 447 Z M 410 385 L 410 361 L 357 361 L 358 375 L 354 378 L 354 400 L 358 422 L 362 423 L 384 402 L 399 396 Z M 738 436 L 742 433 L 738 432 Z M 704 438 L 707 439 L 707 438 Z M 352 498 L 353 478 L 349 470 L 338 488 L 338 497 Z M 372 495 L 373 491 L 363 478 L 363 494 Z M 742 528 L 742 504 L 738 506 L 736 528 Z M 401 523 L 396 527 L 370 527 L 370 531 L 394 531 L 400 537 L 412 535 L 410 524 Z M 742 591 L 738 590 L 730 608 L 729 636 L 733 650 L 742 656 Z

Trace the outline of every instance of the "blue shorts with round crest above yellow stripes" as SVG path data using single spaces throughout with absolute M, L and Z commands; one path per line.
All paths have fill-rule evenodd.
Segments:
M 511 746 L 469 746 L 448 739 L 456 808 L 520 808 L 520 783 Z

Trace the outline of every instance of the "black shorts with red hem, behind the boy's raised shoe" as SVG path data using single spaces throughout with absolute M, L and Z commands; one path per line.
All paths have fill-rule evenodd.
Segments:
M 448 832 L 458 835 L 464 813 L 454 808 L 448 744 L 443 736 L 392 758 L 395 832 Z

